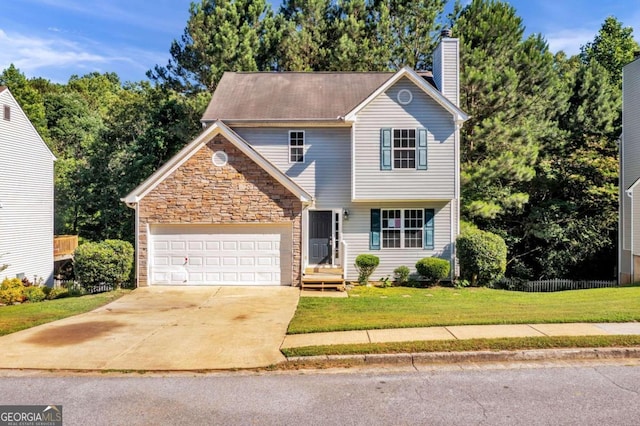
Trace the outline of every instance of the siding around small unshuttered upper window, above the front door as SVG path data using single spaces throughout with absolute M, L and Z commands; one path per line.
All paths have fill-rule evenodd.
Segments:
M 305 132 L 304 163 L 289 162 L 289 130 Z M 351 201 L 351 129 L 235 128 L 256 151 L 315 197 L 317 209 Z

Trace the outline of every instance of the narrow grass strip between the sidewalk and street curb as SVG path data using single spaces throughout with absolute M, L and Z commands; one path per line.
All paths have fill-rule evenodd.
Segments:
M 605 348 L 635 346 L 640 346 L 640 336 L 544 336 L 305 346 L 301 348 L 282 349 L 282 353 L 287 357 L 292 357 L 315 355 L 515 351 L 527 349 Z

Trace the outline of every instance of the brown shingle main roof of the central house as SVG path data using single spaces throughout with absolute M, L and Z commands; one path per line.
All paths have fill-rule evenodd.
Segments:
M 202 120 L 336 120 L 393 75 L 391 72 L 227 72 L 220 79 Z M 424 77 L 429 80 L 427 75 Z

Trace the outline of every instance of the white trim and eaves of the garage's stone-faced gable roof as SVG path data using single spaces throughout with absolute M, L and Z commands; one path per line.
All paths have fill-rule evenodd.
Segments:
M 236 146 L 243 154 L 253 160 L 258 166 L 262 167 L 267 173 L 273 176 L 279 183 L 287 188 L 291 193 L 297 196 L 301 201 L 311 201 L 313 197 L 302 187 L 295 183 L 291 178 L 281 172 L 276 166 L 271 164 L 260 153 L 255 151 L 249 144 L 238 136 L 233 130 L 229 129 L 223 122 L 216 121 L 207 127 L 198 137 L 191 141 L 187 146 L 182 148 L 167 163 L 156 170 L 149 178 L 142 182 L 137 188 L 131 191 L 126 197 L 122 198 L 127 204 L 135 204 L 139 202 L 145 195 L 151 192 L 160 182 L 171 175 L 178 167 L 191 158 L 200 148 L 202 148 L 214 136 L 221 134 L 229 142 Z

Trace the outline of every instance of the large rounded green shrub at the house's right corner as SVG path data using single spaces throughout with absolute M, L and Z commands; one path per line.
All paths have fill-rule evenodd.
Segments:
M 461 278 L 473 286 L 490 286 L 507 268 L 507 245 L 492 232 L 468 229 L 456 240 Z

